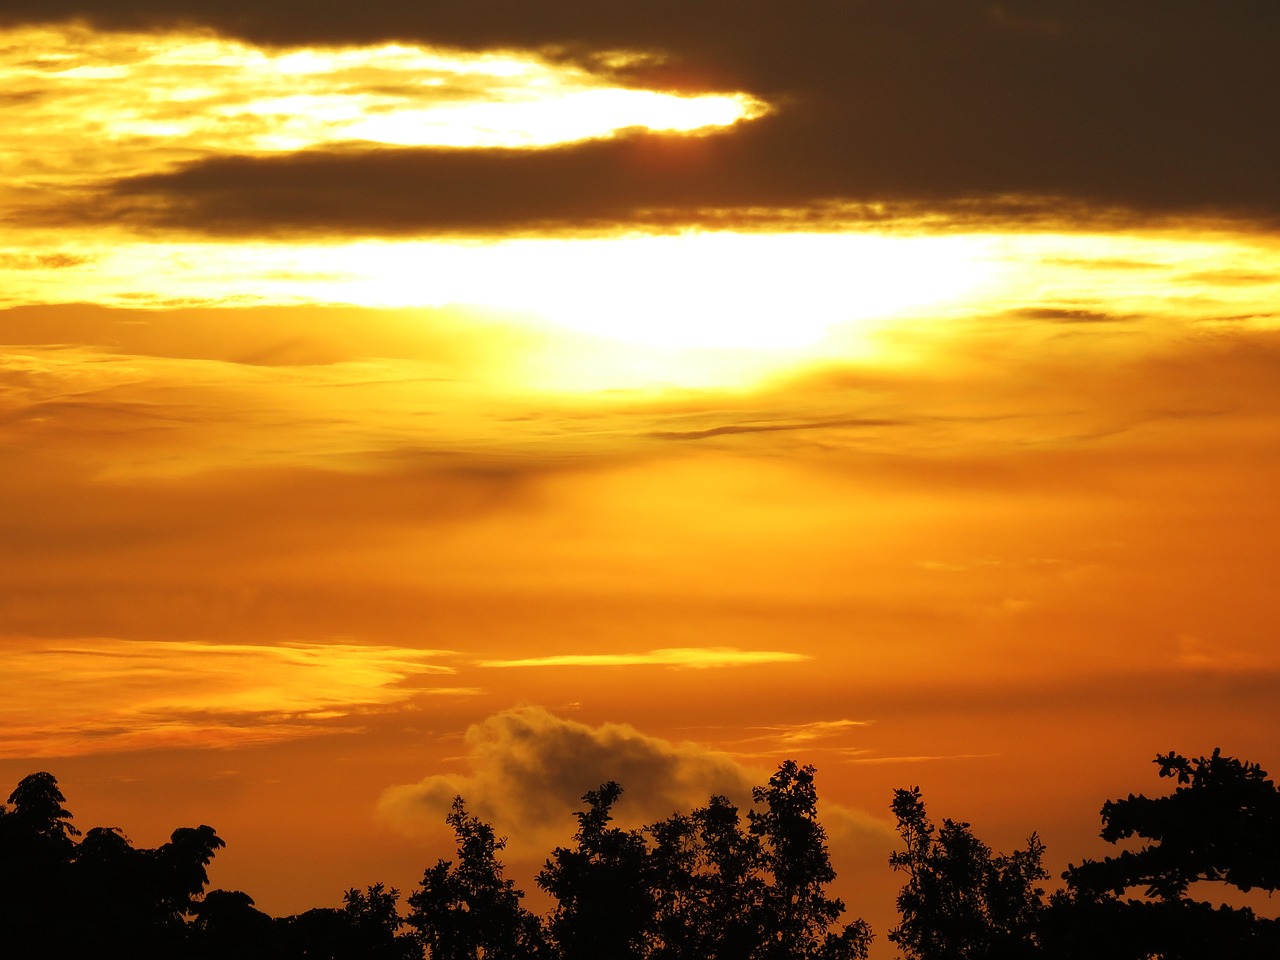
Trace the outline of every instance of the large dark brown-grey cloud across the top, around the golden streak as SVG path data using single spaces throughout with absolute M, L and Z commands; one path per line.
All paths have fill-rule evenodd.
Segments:
M 1274 4 L 443 0 L 374 3 L 358 15 L 293 0 L 6 6 L 9 20 L 193 20 L 266 44 L 396 38 L 585 61 L 607 50 L 662 51 L 666 61 L 622 68 L 621 78 L 741 88 L 780 108 L 703 140 L 709 159 L 660 177 L 639 175 L 630 147 L 614 143 L 489 160 L 470 151 L 220 160 L 118 188 L 186 198 L 214 215 L 215 229 L 219 205 L 233 232 L 237 216 L 243 227 L 398 232 L 590 225 L 644 207 L 1009 195 L 1267 221 L 1280 214 L 1280 128 L 1268 123 L 1280 115 Z

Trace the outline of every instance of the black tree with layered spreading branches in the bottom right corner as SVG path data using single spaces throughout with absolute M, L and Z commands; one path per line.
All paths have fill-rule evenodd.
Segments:
M 1268 893 L 1280 886 L 1280 791 L 1256 763 L 1189 760 L 1172 751 L 1155 763 L 1176 781 L 1166 796 L 1130 794 L 1102 806 L 1102 838 L 1138 837 L 1135 850 L 1085 860 L 1062 874 L 1048 941 L 1056 956 L 1098 960 L 1275 960 L 1280 924 L 1248 908 L 1192 900 L 1194 883 Z M 1143 899 L 1121 899 L 1140 890 Z

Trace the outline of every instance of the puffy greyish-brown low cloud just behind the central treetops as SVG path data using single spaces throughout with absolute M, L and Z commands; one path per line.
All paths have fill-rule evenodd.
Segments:
M 616 809 L 620 824 L 637 827 L 701 806 L 716 794 L 745 808 L 751 786 L 768 780 L 768 772 L 698 744 L 625 723 L 591 727 L 540 707 L 488 717 L 467 730 L 465 742 L 468 773 L 435 774 L 383 794 L 379 812 L 392 827 L 434 835 L 461 795 L 472 813 L 509 837 L 513 856 L 540 856 L 568 840 L 581 796 L 605 781 L 625 790 Z M 887 827 L 861 812 L 823 804 L 822 815 L 842 847 L 878 850 L 887 837 Z

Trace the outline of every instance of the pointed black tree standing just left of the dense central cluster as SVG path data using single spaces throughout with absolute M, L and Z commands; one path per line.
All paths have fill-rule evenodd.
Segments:
M 457 841 L 457 865 L 439 860 L 410 896 L 408 923 L 431 960 L 525 960 L 539 952 L 538 919 L 524 893 L 503 877 L 498 852 L 506 841 L 454 797 L 445 818 Z

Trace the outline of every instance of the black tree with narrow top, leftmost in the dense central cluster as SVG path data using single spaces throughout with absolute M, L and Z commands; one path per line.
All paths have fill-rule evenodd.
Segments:
M 538 886 L 556 897 L 548 933 L 562 960 L 632 960 L 644 955 L 654 915 L 645 874 L 644 836 L 611 827 L 622 787 L 589 790 L 577 818 L 576 845 L 557 847 Z

